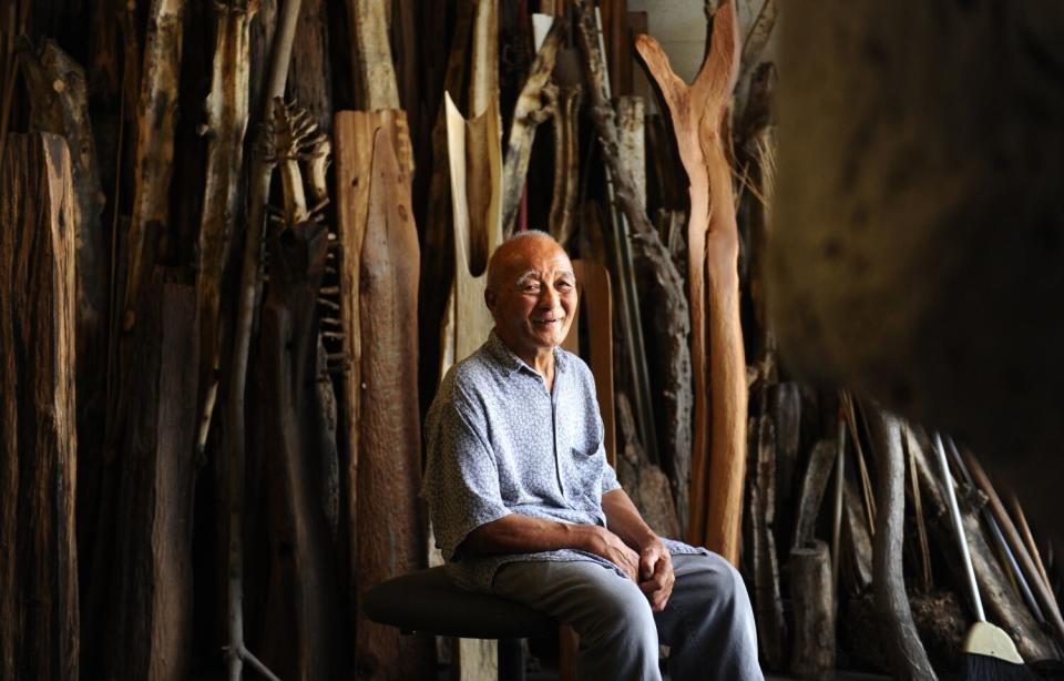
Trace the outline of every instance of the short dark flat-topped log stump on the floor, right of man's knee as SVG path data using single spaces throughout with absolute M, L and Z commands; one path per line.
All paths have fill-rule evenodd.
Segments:
M 823 541 L 790 550 L 790 593 L 795 608 L 790 672 L 799 679 L 833 679 L 836 599 Z

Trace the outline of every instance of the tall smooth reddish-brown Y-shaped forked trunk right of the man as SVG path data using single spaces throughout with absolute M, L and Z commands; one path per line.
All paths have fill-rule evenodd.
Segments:
M 739 324 L 739 242 L 724 130 L 738 72 L 735 3 L 722 4 L 714 14 L 706 59 L 690 87 L 673 73 L 668 58 L 653 38 L 640 35 L 636 49 L 668 104 L 690 182 L 687 264 L 695 438 L 688 538 L 736 565 L 747 388 Z

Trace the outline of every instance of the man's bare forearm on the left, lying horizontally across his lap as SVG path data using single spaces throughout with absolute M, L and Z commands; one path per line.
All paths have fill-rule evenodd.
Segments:
M 633 581 L 638 581 L 640 556 L 615 533 L 597 525 L 572 525 L 510 514 L 471 531 L 462 541 L 462 548 L 477 553 L 577 549 L 605 558 Z

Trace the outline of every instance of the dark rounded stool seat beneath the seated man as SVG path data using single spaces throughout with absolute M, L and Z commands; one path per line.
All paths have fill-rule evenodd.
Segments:
M 372 587 L 362 601 L 366 616 L 403 633 L 462 639 L 498 639 L 499 679 L 524 679 L 521 639 L 557 630 L 557 621 L 519 602 L 467 591 L 443 568 L 409 572 Z

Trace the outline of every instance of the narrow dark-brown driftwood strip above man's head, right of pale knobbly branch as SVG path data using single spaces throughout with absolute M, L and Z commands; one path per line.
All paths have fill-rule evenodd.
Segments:
M 573 232 L 580 185 L 580 100 L 579 87 L 561 88 L 554 106 L 554 191 L 548 230 L 562 247 Z

